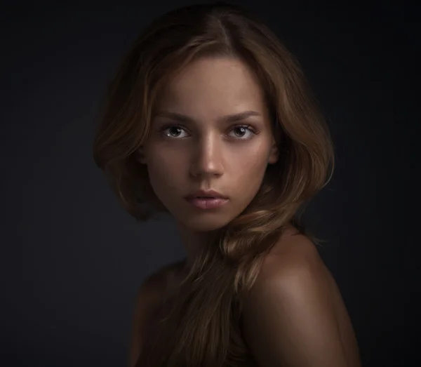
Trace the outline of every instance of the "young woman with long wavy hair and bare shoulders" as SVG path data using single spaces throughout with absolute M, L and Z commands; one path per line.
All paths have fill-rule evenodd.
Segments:
M 302 71 L 235 6 L 152 22 L 107 95 L 95 161 L 128 213 L 187 251 L 140 286 L 130 366 L 356 367 L 340 291 L 298 211 L 333 173 Z

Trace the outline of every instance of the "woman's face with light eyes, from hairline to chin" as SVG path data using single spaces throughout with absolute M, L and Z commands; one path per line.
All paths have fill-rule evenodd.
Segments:
M 244 115 L 228 119 L 235 114 Z M 267 164 L 278 159 L 270 126 L 262 90 L 248 67 L 233 58 L 202 58 L 166 86 L 139 159 L 156 196 L 180 225 L 218 229 L 248 206 Z M 217 208 L 199 208 L 185 196 L 200 189 L 227 199 Z

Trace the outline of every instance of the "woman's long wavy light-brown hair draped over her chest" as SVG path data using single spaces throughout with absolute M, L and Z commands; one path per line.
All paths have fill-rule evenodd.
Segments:
M 168 81 L 207 56 L 237 58 L 258 76 L 279 160 L 267 167 L 246 210 L 203 243 L 160 320 L 150 358 L 142 357 L 138 366 L 252 366 L 241 337 L 241 296 L 252 288 L 288 222 L 319 242 L 307 233 L 300 211 L 333 174 L 328 126 L 299 62 L 262 20 L 238 6 L 186 6 L 144 29 L 107 89 L 93 144 L 95 163 L 136 220 L 166 212 L 135 152 L 147 139 Z

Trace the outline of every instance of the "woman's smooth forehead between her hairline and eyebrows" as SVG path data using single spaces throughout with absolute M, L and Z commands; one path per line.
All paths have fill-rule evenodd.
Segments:
M 166 85 L 159 106 L 209 116 L 243 109 L 263 112 L 265 102 L 258 78 L 248 65 L 234 58 L 202 58 Z

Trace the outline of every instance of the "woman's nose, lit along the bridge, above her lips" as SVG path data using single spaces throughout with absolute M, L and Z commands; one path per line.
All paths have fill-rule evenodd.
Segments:
M 190 173 L 195 178 L 220 176 L 224 172 L 222 151 L 218 140 L 208 135 L 197 140 L 192 152 Z

